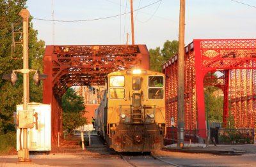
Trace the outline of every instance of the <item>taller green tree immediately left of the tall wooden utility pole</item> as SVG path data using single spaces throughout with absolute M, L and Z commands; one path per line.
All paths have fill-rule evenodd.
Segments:
M 164 47 L 161 50 L 161 53 L 164 57 L 164 62 L 168 61 L 171 57 L 176 55 L 179 51 L 179 41 L 173 40 L 173 41 L 165 41 Z

